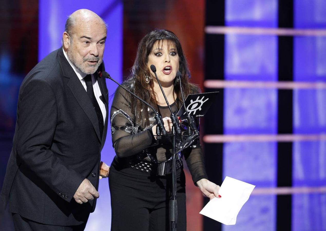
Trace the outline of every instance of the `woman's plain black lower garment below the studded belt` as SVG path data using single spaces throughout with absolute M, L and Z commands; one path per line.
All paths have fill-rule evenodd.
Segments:
M 114 162 L 114 161 L 113 161 Z M 170 198 L 172 174 L 150 176 L 131 168 L 109 172 L 111 231 L 171 230 Z M 186 231 L 185 173 L 177 171 L 177 230 Z

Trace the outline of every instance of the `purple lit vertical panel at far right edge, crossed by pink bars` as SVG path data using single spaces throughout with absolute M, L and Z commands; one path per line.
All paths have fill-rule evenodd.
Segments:
M 295 28 L 326 28 L 326 2 L 294 1 Z M 326 82 L 326 38 L 294 38 L 294 81 Z M 324 134 L 326 90 L 293 90 L 293 133 Z M 326 142 L 294 142 L 293 186 L 326 185 Z M 326 230 L 326 194 L 292 196 L 292 230 Z

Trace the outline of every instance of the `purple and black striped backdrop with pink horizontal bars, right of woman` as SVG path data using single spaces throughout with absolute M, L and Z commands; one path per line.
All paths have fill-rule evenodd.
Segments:
M 204 86 L 223 98 L 205 121 L 209 177 L 256 188 L 236 225 L 204 230 L 326 230 L 326 2 L 207 0 L 206 19 Z

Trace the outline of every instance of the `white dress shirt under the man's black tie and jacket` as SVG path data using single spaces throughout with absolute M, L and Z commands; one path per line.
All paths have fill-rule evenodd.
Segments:
M 63 50 L 63 48 L 62 48 Z M 75 67 L 75 65 L 73 65 L 70 60 L 68 59 L 68 56 L 65 52 L 65 50 L 63 50 L 63 53 L 66 57 L 66 59 L 68 60 L 68 63 L 70 64 L 70 66 L 72 67 L 72 69 L 74 69 L 78 79 L 81 81 L 83 87 L 85 88 L 85 91 L 87 91 L 87 87 L 86 87 L 86 83 L 85 83 L 85 80 L 84 78 L 86 77 L 87 74 L 83 73 L 81 70 L 77 69 L 77 67 Z M 94 74 L 91 75 L 92 76 L 92 83 L 93 83 L 93 91 L 94 91 L 94 95 L 95 95 L 95 98 L 97 100 L 97 103 L 98 105 L 100 106 L 101 108 L 101 112 L 102 112 L 102 115 L 103 115 L 103 123 L 105 123 L 105 119 L 106 119 L 106 109 L 105 109 L 105 105 L 104 103 L 102 102 L 102 100 L 100 99 L 100 96 L 102 95 L 101 93 L 101 90 L 100 90 L 100 87 L 98 86 L 98 82 L 97 82 L 97 79 L 94 78 Z M 104 96 L 103 96 L 104 97 Z

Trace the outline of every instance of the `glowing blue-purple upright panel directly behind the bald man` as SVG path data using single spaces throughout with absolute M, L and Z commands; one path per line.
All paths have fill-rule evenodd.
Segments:
M 96 4 L 80 0 L 39 0 L 39 47 L 38 59 L 43 59 L 50 52 L 62 46 L 61 39 L 64 32 L 67 16 L 74 11 L 87 8 L 98 14 L 108 24 L 108 37 L 105 43 L 105 69 L 117 81 L 122 81 L 122 43 L 123 43 L 123 3 L 120 0 L 99 0 Z M 109 90 L 109 110 L 111 108 L 110 95 L 116 89 L 116 84 L 107 80 Z M 109 111 L 110 113 L 110 111 Z M 109 118 L 110 121 L 110 118 Z M 111 128 L 105 146 L 101 153 L 101 160 L 111 165 L 115 152 L 112 148 Z M 111 227 L 111 200 L 108 179 L 99 183 L 101 199 L 97 201 L 94 213 L 91 213 L 86 231 L 109 230 Z

